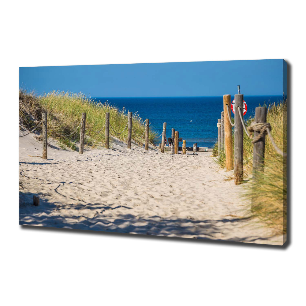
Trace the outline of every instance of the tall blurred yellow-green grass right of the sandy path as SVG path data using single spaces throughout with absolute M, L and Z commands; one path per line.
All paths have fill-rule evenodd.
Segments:
M 264 105 L 265 106 L 265 105 Z M 273 103 L 267 107 L 267 122 L 271 124 L 271 134 L 276 145 L 286 151 L 287 145 L 287 104 Z M 233 120 L 233 118 L 232 118 Z M 244 121 L 249 126 L 254 118 Z M 234 150 L 234 133 L 233 133 Z M 218 155 L 218 142 L 212 154 Z M 217 159 L 221 167 L 225 167 L 225 154 L 221 152 Z M 250 213 L 272 227 L 277 234 L 286 232 L 286 159 L 278 155 L 266 136 L 265 167 L 263 172 L 256 173 L 256 180 L 252 178 L 253 144 L 244 132 L 243 141 L 243 167 L 244 179 L 249 180 L 244 185 L 246 192 L 243 197 L 252 200 Z

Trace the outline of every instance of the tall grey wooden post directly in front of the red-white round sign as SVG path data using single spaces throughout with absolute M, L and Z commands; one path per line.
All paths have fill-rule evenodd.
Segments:
M 243 181 L 243 126 L 238 112 L 240 112 L 241 116 L 243 116 L 243 95 L 235 95 L 235 185 L 240 185 Z

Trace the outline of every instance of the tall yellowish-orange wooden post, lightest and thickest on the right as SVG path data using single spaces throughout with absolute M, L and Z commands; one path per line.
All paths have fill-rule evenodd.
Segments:
M 232 125 L 228 116 L 229 113 L 230 118 L 232 118 L 230 106 L 231 106 L 230 95 L 223 95 L 226 171 L 233 170 L 234 168 Z M 226 109 L 227 107 L 229 107 L 228 111 Z

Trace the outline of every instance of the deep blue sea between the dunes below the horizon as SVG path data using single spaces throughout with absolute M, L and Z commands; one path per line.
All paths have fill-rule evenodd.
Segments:
M 179 137 L 186 140 L 186 146 L 213 147 L 218 138 L 217 121 L 223 111 L 223 97 L 158 97 L 158 98 L 93 98 L 95 101 L 106 102 L 125 107 L 126 112 L 137 111 L 143 119 L 149 118 L 150 129 L 162 132 L 163 122 L 167 122 L 166 137 L 171 137 L 171 129 L 179 131 Z M 232 96 L 231 100 L 234 99 Z M 254 117 L 255 107 L 264 103 L 277 103 L 282 96 L 244 96 L 247 113 L 244 118 Z M 232 117 L 234 115 L 232 114 Z M 161 142 L 161 137 L 156 144 Z

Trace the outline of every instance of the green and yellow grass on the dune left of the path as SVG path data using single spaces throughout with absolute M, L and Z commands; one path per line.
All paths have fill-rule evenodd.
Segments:
M 80 124 L 82 113 L 86 113 L 85 147 L 97 147 L 105 143 L 104 129 L 99 131 L 105 124 L 105 113 L 110 113 L 110 124 L 116 132 L 121 132 L 128 121 L 125 109 L 119 110 L 108 103 L 96 103 L 90 97 L 82 93 L 52 91 L 48 94 L 38 96 L 35 92 L 19 91 L 20 120 L 27 127 L 35 126 L 40 121 L 42 113 L 48 114 L 48 136 L 60 141 L 61 147 L 69 147 L 76 150 L 75 143 L 80 140 L 80 128 L 69 137 L 62 137 L 58 134 L 68 135 Z M 36 120 L 36 121 L 35 121 Z M 37 123 L 36 123 L 37 124 Z M 136 135 L 140 137 L 145 129 L 144 119 L 134 113 L 132 125 Z M 152 131 L 154 132 L 154 131 Z M 118 135 L 110 128 L 110 136 L 127 142 L 128 129 Z M 156 133 L 149 133 L 149 142 L 154 143 Z M 132 130 L 132 139 L 141 145 Z M 111 141 L 111 138 L 110 138 Z M 144 143 L 144 139 L 142 144 Z

